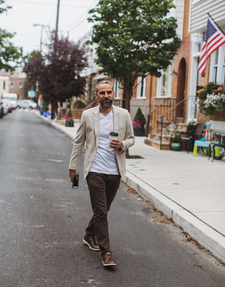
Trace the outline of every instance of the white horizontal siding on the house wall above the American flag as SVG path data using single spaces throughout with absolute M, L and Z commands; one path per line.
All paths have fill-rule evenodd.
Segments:
M 191 4 L 191 33 L 203 33 L 209 13 L 216 23 L 225 28 L 225 0 L 192 0 Z

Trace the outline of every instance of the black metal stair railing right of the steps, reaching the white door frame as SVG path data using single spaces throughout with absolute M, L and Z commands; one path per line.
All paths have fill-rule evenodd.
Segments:
M 168 127 L 174 119 L 178 119 L 179 123 L 186 123 L 187 118 L 196 119 L 197 114 L 197 96 L 188 96 L 175 106 L 167 110 L 160 116 L 161 123 L 161 137 L 160 137 L 160 149 L 162 149 L 163 129 Z M 182 127 L 181 127 L 182 129 Z

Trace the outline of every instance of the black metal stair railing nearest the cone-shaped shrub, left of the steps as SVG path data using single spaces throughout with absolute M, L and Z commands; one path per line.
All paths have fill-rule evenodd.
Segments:
M 164 99 L 158 106 L 154 108 L 147 116 L 147 133 L 146 137 L 148 137 L 149 133 L 151 133 L 154 129 L 159 127 L 161 123 L 161 115 L 165 113 L 168 109 L 173 107 L 176 103 L 176 99 Z

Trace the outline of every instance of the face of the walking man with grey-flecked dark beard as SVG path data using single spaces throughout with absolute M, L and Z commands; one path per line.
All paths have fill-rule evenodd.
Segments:
M 115 97 L 111 84 L 100 84 L 98 91 L 95 93 L 95 97 L 98 99 L 99 104 L 102 108 L 110 108 Z

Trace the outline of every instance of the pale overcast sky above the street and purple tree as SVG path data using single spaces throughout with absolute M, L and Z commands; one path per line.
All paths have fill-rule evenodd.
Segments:
M 0 28 L 8 32 L 16 32 L 12 39 L 15 46 L 23 47 L 24 55 L 33 50 L 40 50 L 41 26 L 56 28 L 58 0 L 6 0 L 12 6 L 7 14 L 0 15 Z M 58 33 L 77 42 L 91 30 L 92 23 L 87 22 L 89 9 L 95 7 L 97 0 L 60 0 Z M 43 26 L 42 43 L 46 42 L 46 29 Z M 44 50 L 44 46 L 42 47 Z

